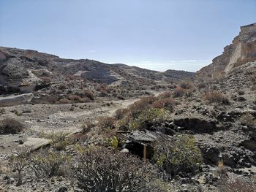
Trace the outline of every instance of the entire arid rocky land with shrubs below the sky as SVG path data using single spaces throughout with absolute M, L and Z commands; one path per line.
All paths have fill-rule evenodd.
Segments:
M 197 73 L 0 47 L 0 94 L 0 191 L 256 191 L 256 23 Z

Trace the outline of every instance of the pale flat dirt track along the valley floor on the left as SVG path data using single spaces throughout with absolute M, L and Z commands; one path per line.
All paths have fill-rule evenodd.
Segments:
M 46 145 L 47 139 L 39 138 L 42 132 L 68 132 L 74 134 L 80 131 L 80 126 L 86 120 L 97 121 L 100 116 L 112 116 L 116 110 L 126 108 L 139 99 L 125 101 L 104 101 L 83 104 L 23 104 L 5 107 L 0 118 L 15 118 L 25 125 L 25 131 L 20 134 L 0 135 L 0 160 L 7 158 L 10 151 L 17 147 L 40 147 Z M 109 106 L 106 103 L 111 103 Z M 19 145 L 19 142 L 24 142 Z

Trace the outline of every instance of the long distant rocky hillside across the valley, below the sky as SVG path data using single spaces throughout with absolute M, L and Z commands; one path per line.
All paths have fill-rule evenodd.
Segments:
M 156 72 L 124 64 L 104 64 L 89 59 L 64 59 L 36 50 L 0 47 L 1 93 L 32 92 L 45 82 L 66 82 L 77 78 L 84 82 L 108 85 L 152 85 L 155 81 L 177 82 L 194 77 L 192 72 Z M 3 88 L 5 86 L 5 88 Z M 42 88 L 43 86 L 41 86 Z M 0 93 L 0 94 L 1 94 Z

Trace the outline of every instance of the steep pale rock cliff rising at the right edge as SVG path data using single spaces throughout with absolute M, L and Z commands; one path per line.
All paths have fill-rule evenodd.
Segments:
M 210 80 L 229 73 L 237 66 L 256 60 L 256 23 L 241 26 L 232 44 L 224 48 L 222 55 L 197 72 L 197 79 Z

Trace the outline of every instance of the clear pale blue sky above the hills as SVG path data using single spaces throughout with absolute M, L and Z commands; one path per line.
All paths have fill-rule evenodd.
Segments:
M 255 0 L 0 0 L 0 46 L 196 71 L 255 22 Z

